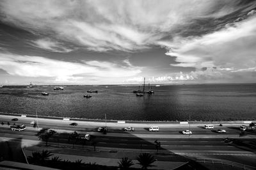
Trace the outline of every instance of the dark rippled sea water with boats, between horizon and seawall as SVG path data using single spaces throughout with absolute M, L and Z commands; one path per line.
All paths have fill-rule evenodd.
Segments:
M 135 86 L 4 87 L 0 112 L 108 120 L 256 120 L 256 84 L 164 85 L 136 97 Z M 84 98 L 86 91 L 98 90 Z M 147 87 L 145 88 L 147 90 Z M 49 96 L 42 96 L 42 92 Z

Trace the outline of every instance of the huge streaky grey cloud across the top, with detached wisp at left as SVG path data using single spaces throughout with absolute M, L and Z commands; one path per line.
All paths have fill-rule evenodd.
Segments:
M 239 1 L 1 1 L 1 20 L 34 34 L 49 34 L 88 50 L 133 51 L 179 34 L 198 18 L 228 15 Z M 191 8 L 193 6 L 193 8 Z M 206 17 L 205 17 L 206 16 Z M 176 32 L 176 33 L 175 33 Z M 40 39 L 40 48 L 66 52 L 59 43 Z

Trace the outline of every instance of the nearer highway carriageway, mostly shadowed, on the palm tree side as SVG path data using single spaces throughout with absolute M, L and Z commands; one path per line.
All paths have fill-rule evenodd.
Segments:
M 22 132 L 10 131 L 7 127 L 0 128 L 0 139 L 3 138 L 22 138 L 35 141 L 38 143 L 38 137 L 35 136 L 36 131 L 26 130 Z M 98 135 L 97 135 L 98 134 Z M 58 145 L 70 145 L 73 142 L 68 141 L 68 133 L 58 133 L 49 139 L 49 142 L 58 143 Z M 183 135 L 180 135 L 183 136 Z M 18 141 L 20 139 L 17 139 Z M 134 134 L 127 134 L 127 136 L 108 136 L 102 135 L 98 132 L 93 134 L 93 141 L 97 141 L 97 146 L 106 147 L 106 148 L 130 148 L 130 149 L 143 149 L 143 150 L 156 150 L 156 143 L 154 141 L 156 138 L 138 138 Z M 161 142 L 161 150 L 170 152 L 170 150 L 194 150 L 197 152 L 216 152 L 216 151 L 225 151 L 225 152 L 243 152 L 241 148 L 230 146 L 223 141 L 223 138 L 157 138 Z M 253 140 L 253 139 L 250 139 Z M 76 145 L 81 146 L 83 141 L 74 142 Z M 86 145 L 92 145 L 92 141 L 87 141 Z

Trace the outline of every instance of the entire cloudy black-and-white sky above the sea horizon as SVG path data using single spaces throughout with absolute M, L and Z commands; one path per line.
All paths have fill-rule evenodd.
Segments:
M 0 84 L 256 83 L 256 1 L 0 1 Z

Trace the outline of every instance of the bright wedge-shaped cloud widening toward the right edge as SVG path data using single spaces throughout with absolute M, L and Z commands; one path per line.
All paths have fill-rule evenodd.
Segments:
M 247 69 L 256 65 L 256 17 L 236 22 L 232 27 L 190 39 L 176 38 L 167 45 L 166 55 L 177 57 L 182 67 L 232 67 Z

